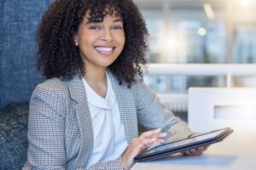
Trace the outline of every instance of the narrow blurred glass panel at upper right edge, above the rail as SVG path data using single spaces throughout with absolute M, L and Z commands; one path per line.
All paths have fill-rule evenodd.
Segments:
M 234 14 L 234 63 L 256 63 L 256 1 L 236 0 Z

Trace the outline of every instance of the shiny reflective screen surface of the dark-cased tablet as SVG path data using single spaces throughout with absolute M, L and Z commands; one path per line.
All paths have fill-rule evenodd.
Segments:
M 160 146 L 156 146 L 152 149 L 146 150 L 145 152 L 143 152 L 142 156 L 148 155 L 148 154 L 151 154 L 151 153 L 160 152 L 162 150 L 179 148 L 179 147 L 184 146 L 186 144 L 193 144 L 193 143 L 205 141 L 207 139 L 214 139 L 215 137 L 217 137 L 221 133 L 224 133 L 225 130 L 227 130 L 227 129 L 224 128 L 224 129 L 220 129 L 218 131 L 213 131 L 211 133 L 202 133 L 199 136 L 195 136 L 195 137 L 192 137 L 192 138 L 189 138 L 189 139 L 179 140 L 177 142 L 172 142 L 172 143 L 169 143 L 169 144 L 161 144 Z

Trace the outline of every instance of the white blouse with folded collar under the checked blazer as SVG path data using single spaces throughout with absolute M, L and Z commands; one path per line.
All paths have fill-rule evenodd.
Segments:
M 125 128 L 120 119 L 119 106 L 113 93 L 108 74 L 108 90 L 105 99 L 90 88 L 83 78 L 84 88 L 92 119 L 94 145 L 86 168 L 119 158 L 128 146 Z

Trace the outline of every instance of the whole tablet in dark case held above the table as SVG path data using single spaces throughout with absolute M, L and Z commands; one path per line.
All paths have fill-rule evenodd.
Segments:
M 191 150 L 200 146 L 214 144 L 227 137 L 233 130 L 230 127 L 214 130 L 208 133 L 201 133 L 189 139 L 182 139 L 172 143 L 161 144 L 135 157 L 135 161 L 149 161 L 168 156 L 185 150 Z

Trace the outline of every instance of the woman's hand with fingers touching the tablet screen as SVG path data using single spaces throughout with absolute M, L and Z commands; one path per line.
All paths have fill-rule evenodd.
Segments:
M 143 150 L 147 150 L 152 144 L 162 144 L 165 142 L 161 138 L 166 137 L 167 133 L 161 133 L 160 131 L 160 128 L 150 130 L 131 140 L 131 144 L 125 150 L 125 154 L 122 157 L 125 170 L 131 169 L 134 164 L 134 158 L 142 153 Z

